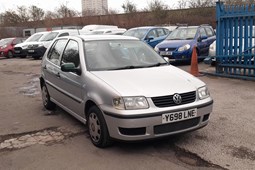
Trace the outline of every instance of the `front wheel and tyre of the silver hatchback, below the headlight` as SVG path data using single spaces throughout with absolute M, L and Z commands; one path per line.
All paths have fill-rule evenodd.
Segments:
M 111 144 L 107 124 L 103 114 L 96 106 L 92 106 L 88 111 L 88 129 L 92 143 L 99 148 L 105 148 Z

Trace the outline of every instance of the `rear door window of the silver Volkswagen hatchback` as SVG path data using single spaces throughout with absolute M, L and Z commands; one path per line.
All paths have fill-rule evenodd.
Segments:
M 62 40 L 57 40 L 53 46 L 51 47 L 47 58 L 53 62 L 56 65 L 59 65 L 59 58 L 60 55 L 62 53 L 62 51 L 65 48 L 67 40 L 66 39 L 62 39 Z

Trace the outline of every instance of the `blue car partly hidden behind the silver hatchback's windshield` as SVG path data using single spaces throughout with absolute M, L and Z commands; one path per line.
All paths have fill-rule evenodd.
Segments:
M 163 27 L 148 26 L 131 28 L 123 35 L 136 37 L 154 48 L 158 43 L 166 39 L 169 32 L 168 29 Z

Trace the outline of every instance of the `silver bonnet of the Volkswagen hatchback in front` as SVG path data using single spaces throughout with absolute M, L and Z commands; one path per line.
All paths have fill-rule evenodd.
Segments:
M 94 71 L 92 74 L 121 96 L 164 96 L 195 91 L 204 85 L 202 81 L 174 66 Z

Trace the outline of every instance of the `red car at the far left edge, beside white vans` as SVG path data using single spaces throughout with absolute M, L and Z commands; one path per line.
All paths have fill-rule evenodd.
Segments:
M 0 57 L 12 58 L 14 46 L 23 42 L 23 38 L 4 38 L 0 40 Z

